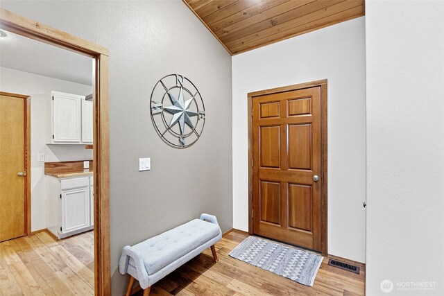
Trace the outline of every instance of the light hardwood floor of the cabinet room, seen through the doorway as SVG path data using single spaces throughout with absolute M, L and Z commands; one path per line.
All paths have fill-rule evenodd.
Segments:
M 93 232 L 0 243 L 0 295 L 94 295 Z

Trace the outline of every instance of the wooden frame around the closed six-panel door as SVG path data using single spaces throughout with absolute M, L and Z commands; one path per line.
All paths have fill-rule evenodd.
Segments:
M 321 87 L 321 252 L 327 251 L 327 79 L 248 93 L 248 233 L 253 235 L 253 97 Z

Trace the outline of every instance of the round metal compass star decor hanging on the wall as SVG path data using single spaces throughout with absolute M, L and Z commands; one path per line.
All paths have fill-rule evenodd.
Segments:
M 198 89 L 186 77 L 171 74 L 157 81 L 150 108 L 157 134 L 170 146 L 187 148 L 202 134 L 205 106 Z

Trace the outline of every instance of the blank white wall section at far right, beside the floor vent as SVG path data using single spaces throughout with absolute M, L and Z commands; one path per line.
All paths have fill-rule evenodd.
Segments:
M 443 1 L 366 1 L 367 295 L 444 295 L 443 20 Z

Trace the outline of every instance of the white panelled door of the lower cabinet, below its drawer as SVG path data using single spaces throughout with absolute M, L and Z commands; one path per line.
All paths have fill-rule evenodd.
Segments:
M 89 226 L 89 186 L 62 191 L 62 233 Z

